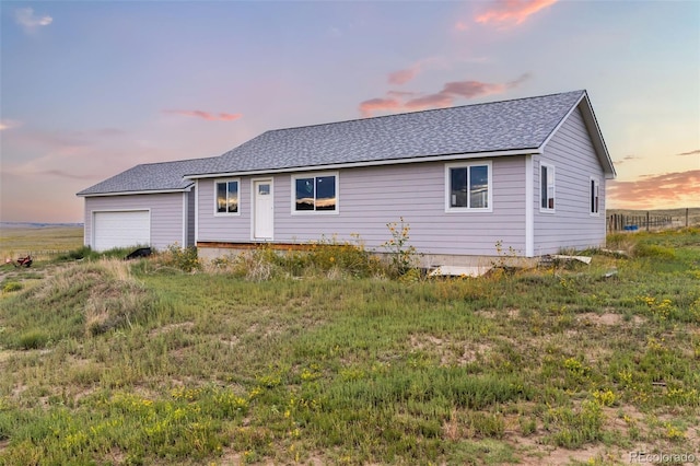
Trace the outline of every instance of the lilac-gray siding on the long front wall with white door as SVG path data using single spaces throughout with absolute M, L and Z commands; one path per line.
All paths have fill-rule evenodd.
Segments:
M 358 235 L 365 247 L 384 251 L 382 245 L 390 240 L 386 224 L 398 222 L 402 217 L 410 226 L 408 244 L 422 254 L 494 255 L 499 241 L 505 249 L 513 247 L 522 254 L 525 248 L 524 158 L 500 158 L 491 163 L 491 212 L 445 212 L 445 163 L 442 162 L 334 172 L 339 176 L 337 213 L 292 212 L 292 174 L 277 174 L 273 177 L 273 241 L 307 243 L 323 237 L 355 241 Z M 316 173 L 327 172 L 296 175 Z M 250 241 L 250 178 L 241 177 L 241 214 L 236 217 L 213 215 L 212 180 L 200 179 L 198 189 L 199 241 Z

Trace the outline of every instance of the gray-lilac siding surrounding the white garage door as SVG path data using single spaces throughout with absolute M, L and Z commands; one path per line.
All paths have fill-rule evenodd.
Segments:
M 183 244 L 183 193 L 104 196 L 85 198 L 85 245 L 92 244 L 92 221 L 95 211 L 150 210 L 151 246 L 165 249 Z

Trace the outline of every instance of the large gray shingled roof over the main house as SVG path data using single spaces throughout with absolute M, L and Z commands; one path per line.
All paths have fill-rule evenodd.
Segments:
M 585 91 L 573 91 L 277 129 L 210 159 L 198 172 L 188 175 L 196 178 L 217 174 L 419 161 L 451 154 L 535 151 L 542 147 L 584 96 Z M 590 109 L 588 105 L 586 107 Z M 592 110 L 591 117 L 595 121 Z M 602 139 L 599 147 L 607 158 Z

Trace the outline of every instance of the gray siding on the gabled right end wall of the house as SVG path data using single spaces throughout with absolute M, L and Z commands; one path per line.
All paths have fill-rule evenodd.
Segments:
M 540 164 L 555 167 L 555 212 L 540 212 Z M 605 175 L 581 112 L 574 109 L 535 158 L 535 255 L 605 245 Z M 591 177 L 599 182 L 599 213 L 591 214 Z

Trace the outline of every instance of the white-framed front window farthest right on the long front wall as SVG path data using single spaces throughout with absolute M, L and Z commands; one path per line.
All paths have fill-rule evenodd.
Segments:
M 491 210 L 491 164 L 447 165 L 447 210 Z

